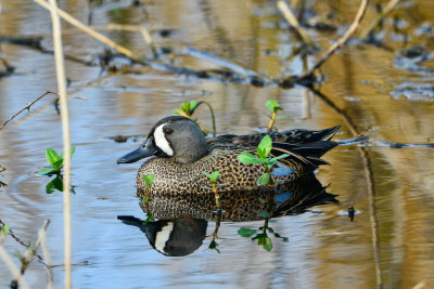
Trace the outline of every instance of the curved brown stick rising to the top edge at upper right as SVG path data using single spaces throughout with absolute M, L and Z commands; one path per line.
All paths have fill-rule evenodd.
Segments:
M 299 78 L 305 78 L 314 74 L 316 69 L 318 69 L 329 57 L 345 42 L 349 39 L 349 37 L 356 31 L 357 27 L 360 25 L 361 19 L 363 18 L 366 9 L 368 6 L 369 0 L 361 0 L 359 11 L 357 12 L 356 18 L 354 19 L 352 26 L 349 26 L 348 30 L 329 48 L 329 50 L 324 53 L 324 55 L 305 74 L 303 74 Z

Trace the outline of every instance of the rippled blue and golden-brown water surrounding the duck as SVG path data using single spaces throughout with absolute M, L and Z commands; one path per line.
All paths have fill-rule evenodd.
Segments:
M 303 60 L 292 51 L 294 34 L 270 1 L 156 1 L 143 6 L 131 1 L 104 1 L 94 8 L 95 26 L 108 23 L 145 24 L 158 47 L 184 47 L 231 60 L 269 77 L 299 74 Z M 308 18 L 336 26 L 342 35 L 358 9 L 358 1 L 307 2 Z M 87 23 L 87 1 L 61 1 L 61 6 Z M 30 1 L 0 2 L 0 37 L 41 35 L 51 49 L 50 17 Z M 256 88 L 224 83 L 136 66 L 136 73 L 101 74 L 99 66 L 67 62 L 73 158 L 73 284 L 75 288 L 412 288 L 434 287 L 434 150 L 414 144 L 434 143 L 432 1 L 405 1 L 386 18 L 378 35 L 384 45 L 352 42 L 323 67 L 319 93 L 305 88 Z M 374 17 L 373 3 L 366 26 Z M 329 15 L 330 17 L 327 17 Z M 148 21 L 146 21 L 148 17 Z M 394 19 L 395 18 L 395 19 Z M 104 47 L 65 25 L 65 53 L 98 63 Z M 163 37 L 162 29 L 170 30 Z M 308 29 L 321 48 L 335 31 Z M 139 32 L 104 31 L 140 55 L 151 54 Z M 417 55 L 408 53 L 413 45 Z M 413 51 L 411 50 L 411 51 Z M 411 52 L 410 51 L 410 52 Z M 5 121 L 46 90 L 56 90 L 53 57 L 49 53 L 0 43 L 0 56 L 15 67 L 0 77 L 0 122 Z M 170 56 L 163 61 L 169 63 Z M 308 57 L 312 62 L 314 56 Z M 116 62 L 118 66 L 123 61 Z M 124 62 L 125 63 L 125 62 Z M 218 68 L 213 63 L 175 56 L 174 65 Z M 0 65 L 0 69 L 3 67 Z M 3 71 L 3 70 L 1 70 Z M 101 75 L 100 75 L 101 74 Z M 101 79 L 100 79 L 101 76 Z M 25 244 L 50 219 L 47 235 L 56 287 L 63 285 L 62 194 L 47 195 L 47 147 L 62 149 L 60 116 L 53 95 L 0 131 L 0 219 Z M 215 223 L 209 221 L 203 245 L 186 257 L 166 257 L 155 250 L 142 231 L 125 225 L 118 215 L 145 219 L 136 198 L 139 163 L 117 166 L 116 159 L 138 146 L 133 137 L 116 143 L 116 135 L 144 135 L 159 118 L 183 102 L 209 102 L 220 133 L 251 133 L 266 127 L 267 100 L 284 108 L 279 129 L 322 129 L 343 124 L 340 140 L 355 134 L 367 142 L 339 146 L 324 156 L 332 166 L 317 174 L 339 202 L 273 219 L 272 228 L 288 241 L 272 238 L 268 252 L 238 234 L 264 221 L 224 220 L 218 232 L 220 254 L 208 245 Z M 326 100 L 326 101 L 324 101 Z M 210 127 L 200 108 L 200 122 Z M 138 139 L 142 140 L 141 137 Z M 396 148 L 391 144 L 408 144 Z M 357 211 L 354 222 L 346 211 Z M 8 236 L 11 254 L 24 247 Z M 13 258 L 17 264 L 17 259 Z M 44 266 L 37 262 L 25 273 L 35 288 L 47 284 Z M 0 262 L 0 286 L 12 280 Z M 423 287 L 422 287 L 423 288 Z

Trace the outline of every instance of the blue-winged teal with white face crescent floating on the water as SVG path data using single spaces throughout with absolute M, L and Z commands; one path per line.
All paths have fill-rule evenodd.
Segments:
M 272 140 L 272 156 L 290 154 L 280 159 L 272 170 L 280 185 L 312 172 L 328 163 L 320 159 L 337 144 L 330 141 L 341 126 L 321 131 L 290 130 L 268 133 Z M 130 163 L 150 157 L 141 166 L 137 185 L 144 191 L 143 175 L 153 174 L 151 194 L 200 194 L 208 192 L 208 179 L 203 171 L 219 171 L 217 187 L 220 192 L 266 189 L 257 185 L 265 172 L 260 163 L 243 165 L 237 156 L 242 152 L 256 154 L 265 133 L 225 134 L 205 139 L 200 127 L 191 119 L 171 116 L 161 119 L 151 129 L 148 140 L 136 150 L 119 158 L 117 163 Z

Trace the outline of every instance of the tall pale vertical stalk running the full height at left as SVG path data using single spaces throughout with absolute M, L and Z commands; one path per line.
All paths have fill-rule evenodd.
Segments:
M 39 2 L 39 0 L 38 0 Z M 46 2 L 43 2 L 47 4 Z M 65 253 L 65 288 L 72 288 L 71 278 L 71 259 L 72 259 L 72 233 L 71 233 L 71 133 L 69 133 L 69 111 L 66 96 L 66 77 L 63 63 L 62 50 L 62 30 L 60 11 L 55 0 L 50 0 L 51 21 L 53 24 L 53 43 L 55 56 L 55 70 L 58 76 L 58 87 L 60 93 L 62 132 L 63 132 L 63 152 L 65 154 L 63 161 L 63 225 L 64 225 L 64 253 Z M 48 4 L 47 4 L 48 5 Z M 50 8 L 50 6 L 49 6 Z

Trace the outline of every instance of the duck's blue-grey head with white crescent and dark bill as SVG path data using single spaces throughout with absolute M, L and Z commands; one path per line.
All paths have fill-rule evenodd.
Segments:
M 206 154 L 207 144 L 201 128 L 190 118 L 171 116 L 156 122 L 146 141 L 136 150 L 120 157 L 117 163 L 130 163 L 150 156 L 191 163 Z

